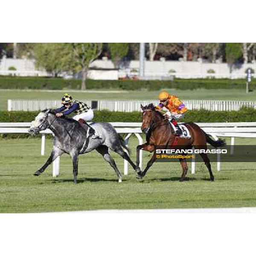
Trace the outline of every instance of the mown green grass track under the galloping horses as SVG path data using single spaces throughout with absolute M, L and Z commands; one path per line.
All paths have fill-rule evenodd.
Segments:
M 229 141 L 228 141 L 229 142 Z M 237 144 L 254 143 L 236 139 Z M 131 139 L 135 161 L 136 139 Z M 194 207 L 255 207 L 254 163 L 212 163 L 215 182 L 209 181 L 204 163 L 196 164 L 180 183 L 179 163 L 154 163 L 138 181 L 129 166 L 128 176 L 118 183 L 113 169 L 96 151 L 79 157 L 78 184 L 73 184 L 71 158 L 61 156 L 60 176 L 52 177 L 52 165 L 39 177 L 33 176 L 47 160 L 52 140 L 46 140 L 46 154 L 40 155 L 41 140 L 0 139 L 0 212 L 58 212 L 91 209 L 157 209 Z M 112 152 L 120 172 L 123 160 Z M 149 160 L 144 152 L 143 165 Z

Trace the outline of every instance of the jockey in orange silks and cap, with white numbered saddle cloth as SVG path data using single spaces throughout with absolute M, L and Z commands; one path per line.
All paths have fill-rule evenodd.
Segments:
M 156 106 L 156 110 L 159 111 L 163 116 L 165 116 L 171 122 L 174 127 L 176 135 L 180 137 L 188 137 L 189 131 L 184 125 L 178 125 L 177 119 L 184 117 L 184 114 L 187 111 L 186 106 L 183 102 L 174 95 L 170 95 L 166 91 L 163 91 L 159 94 L 158 99 L 160 103 Z M 185 128 L 184 128 L 185 127 Z

